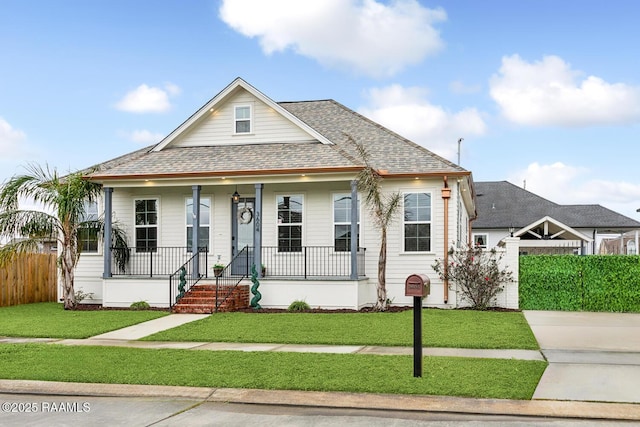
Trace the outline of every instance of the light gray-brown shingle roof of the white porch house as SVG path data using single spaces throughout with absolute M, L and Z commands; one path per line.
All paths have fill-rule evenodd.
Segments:
M 390 174 L 461 173 L 465 169 L 333 100 L 278 105 L 333 143 L 270 143 L 138 150 L 97 166 L 97 177 L 152 177 L 362 167 L 349 136 L 362 143 L 372 166 Z

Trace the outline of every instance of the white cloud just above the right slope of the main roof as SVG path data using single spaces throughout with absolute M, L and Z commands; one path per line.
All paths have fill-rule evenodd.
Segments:
M 449 160 L 456 160 L 459 138 L 483 135 L 486 124 L 475 108 L 449 112 L 430 104 L 427 91 L 391 85 L 371 89 L 370 105 L 359 113 Z

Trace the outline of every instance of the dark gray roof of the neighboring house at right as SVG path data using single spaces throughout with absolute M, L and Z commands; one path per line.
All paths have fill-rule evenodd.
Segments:
M 624 230 L 640 222 L 600 205 L 559 205 L 507 181 L 475 182 L 473 228 L 522 228 L 549 216 L 572 228 Z

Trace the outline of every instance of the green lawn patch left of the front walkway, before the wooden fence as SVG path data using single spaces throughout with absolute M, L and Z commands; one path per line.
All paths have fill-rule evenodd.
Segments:
M 87 338 L 167 315 L 162 311 L 73 311 L 44 302 L 0 308 L 0 336 Z

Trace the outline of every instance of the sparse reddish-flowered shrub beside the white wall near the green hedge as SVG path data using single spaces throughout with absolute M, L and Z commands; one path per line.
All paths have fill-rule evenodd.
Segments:
M 449 264 L 436 260 L 433 269 L 441 279 L 449 280 L 451 289 L 460 293 L 471 308 L 486 310 L 495 297 L 503 291 L 503 285 L 513 279 L 511 271 L 500 269 L 495 249 L 485 251 L 481 247 L 449 249 Z M 453 286 L 455 285 L 455 286 Z

